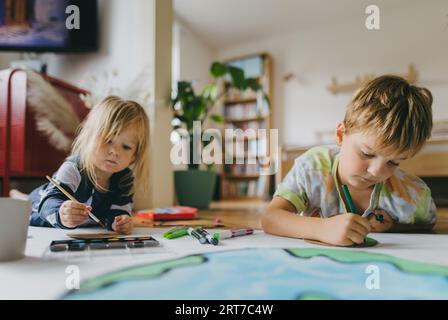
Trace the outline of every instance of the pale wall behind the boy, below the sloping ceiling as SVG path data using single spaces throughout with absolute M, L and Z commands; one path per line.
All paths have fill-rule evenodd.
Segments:
M 381 8 L 380 8 L 381 9 Z M 218 52 L 219 59 L 268 52 L 273 57 L 274 127 L 289 145 L 316 142 L 316 131 L 342 120 L 351 94 L 327 91 L 331 77 L 350 82 L 366 73 L 405 73 L 413 63 L 417 85 L 434 95 L 434 119 L 448 119 L 448 2 L 421 2 L 381 10 L 381 29 L 365 28 L 365 15 L 338 25 L 284 34 Z M 285 74 L 296 78 L 285 82 Z

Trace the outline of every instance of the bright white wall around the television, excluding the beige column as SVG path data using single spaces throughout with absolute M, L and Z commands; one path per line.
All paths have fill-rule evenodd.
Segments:
M 87 75 L 116 69 L 117 84 L 127 86 L 143 68 L 153 68 L 154 21 L 148 19 L 153 16 L 153 5 L 148 0 L 133 0 L 132 5 L 126 0 L 99 0 L 98 52 L 44 53 L 38 57 L 47 63 L 49 75 L 73 84 L 81 84 Z M 18 58 L 18 53 L 0 53 L 1 68 Z

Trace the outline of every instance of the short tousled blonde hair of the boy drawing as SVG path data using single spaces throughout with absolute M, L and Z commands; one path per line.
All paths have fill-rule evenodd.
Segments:
M 345 114 L 346 133 L 367 132 L 378 137 L 377 148 L 415 155 L 431 136 L 432 94 L 405 79 L 384 75 L 353 96 Z

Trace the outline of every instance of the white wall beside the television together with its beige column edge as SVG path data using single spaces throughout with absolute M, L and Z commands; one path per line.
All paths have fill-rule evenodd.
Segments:
M 100 82 L 104 82 L 104 72 L 115 69 L 118 76 L 113 85 L 121 89 L 136 85 L 148 90 L 151 98 L 150 105 L 146 107 L 151 120 L 151 145 L 163 153 L 159 156 L 151 152 L 152 165 L 157 165 L 152 170 L 157 172 L 151 176 L 151 181 L 153 186 L 164 188 L 153 188 L 152 195 L 137 195 L 136 207 L 172 205 L 172 172 L 168 156 L 165 156 L 168 154 L 165 149 L 170 148 L 169 134 L 166 131 L 171 129 L 169 109 L 166 106 L 171 89 L 171 32 L 164 32 L 172 25 L 172 1 L 132 0 L 131 3 L 129 0 L 99 0 L 98 9 L 98 52 L 45 53 L 38 56 L 47 62 L 49 75 L 75 85 L 80 85 L 88 75 L 96 75 Z M 157 12 L 161 19 L 156 19 Z M 161 55 L 164 56 L 160 57 Z M 7 68 L 11 61 L 20 56 L 18 53 L 0 53 L 0 67 Z M 147 76 L 145 81 L 134 81 L 142 72 Z M 90 87 L 85 89 L 92 90 Z M 166 163 L 161 164 L 163 161 Z

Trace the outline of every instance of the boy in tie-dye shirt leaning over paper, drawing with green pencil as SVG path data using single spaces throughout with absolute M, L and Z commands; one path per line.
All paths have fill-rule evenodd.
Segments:
M 369 232 L 431 230 L 431 191 L 399 165 L 430 137 L 432 100 L 429 90 L 396 76 L 358 90 L 337 126 L 337 146 L 315 147 L 295 160 L 262 217 L 265 232 L 349 246 Z M 344 214 L 342 185 L 353 214 Z

